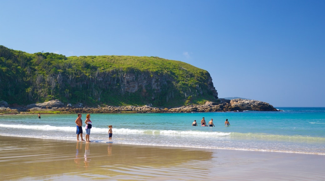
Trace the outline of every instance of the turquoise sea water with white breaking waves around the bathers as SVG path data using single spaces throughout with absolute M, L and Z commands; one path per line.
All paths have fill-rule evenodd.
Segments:
M 90 140 L 114 144 L 325 154 L 325 107 L 278 107 L 281 112 L 91 114 Z M 76 140 L 77 114 L 1 115 L 0 135 Z M 191 126 L 202 117 L 215 127 Z M 86 114 L 82 115 L 83 122 Z M 228 119 L 231 126 L 225 127 Z M 85 139 L 85 124 L 83 123 Z

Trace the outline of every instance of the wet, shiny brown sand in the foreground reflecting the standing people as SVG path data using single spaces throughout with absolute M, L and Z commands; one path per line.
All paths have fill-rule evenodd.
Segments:
M 1 180 L 325 180 L 325 155 L 0 136 Z

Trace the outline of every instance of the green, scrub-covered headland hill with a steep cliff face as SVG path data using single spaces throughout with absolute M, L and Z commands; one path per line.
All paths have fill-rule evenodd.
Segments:
M 0 100 L 174 107 L 216 101 L 210 74 L 159 57 L 29 54 L 0 45 Z

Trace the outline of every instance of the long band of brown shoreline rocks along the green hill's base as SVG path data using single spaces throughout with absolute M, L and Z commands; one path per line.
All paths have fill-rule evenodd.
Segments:
M 1 105 L 6 105 L 2 103 Z M 220 100 L 220 103 L 206 102 L 201 105 L 188 105 L 176 108 L 157 108 L 151 104 L 145 106 L 105 106 L 82 107 L 82 104 L 64 105 L 59 100 L 45 103 L 30 104 L 25 108 L 10 109 L 0 107 L 0 114 L 28 114 L 28 113 L 190 113 L 190 112 L 226 112 L 226 111 L 279 111 L 272 105 L 256 100 L 233 99 Z

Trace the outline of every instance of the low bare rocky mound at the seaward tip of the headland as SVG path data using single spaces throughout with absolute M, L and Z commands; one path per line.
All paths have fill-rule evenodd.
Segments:
M 248 99 L 232 99 L 228 109 L 230 111 L 278 111 L 269 103 Z

